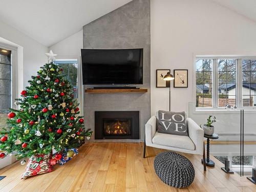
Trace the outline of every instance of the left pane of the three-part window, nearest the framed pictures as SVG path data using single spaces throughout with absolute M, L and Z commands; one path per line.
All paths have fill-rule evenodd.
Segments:
M 212 107 L 212 60 L 197 59 L 196 70 L 196 106 Z

